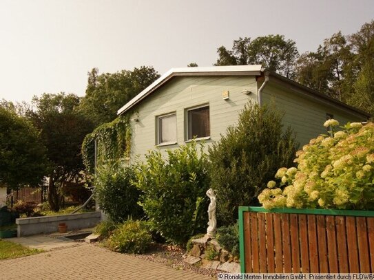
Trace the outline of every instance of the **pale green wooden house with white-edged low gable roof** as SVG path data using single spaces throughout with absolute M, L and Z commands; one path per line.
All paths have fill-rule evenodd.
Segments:
M 118 110 L 131 120 L 130 159 L 156 147 L 176 148 L 194 137 L 207 145 L 220 140 L 249 100 L 275 103 L 301 145 L 326 133 L 322 124 L 328 118 L 343 124 L 370 116 L 261 65 L 170 69 Z

